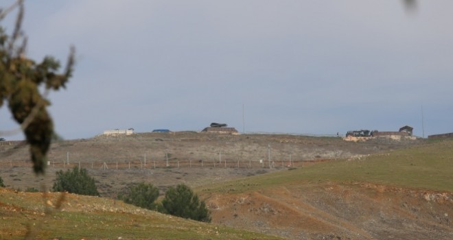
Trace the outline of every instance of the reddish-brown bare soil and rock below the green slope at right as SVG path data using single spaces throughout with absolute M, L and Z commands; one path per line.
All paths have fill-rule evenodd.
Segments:
M 453 239 L 453 193 L 305 183 L 203 197 L 216 224 L 290 239 Z

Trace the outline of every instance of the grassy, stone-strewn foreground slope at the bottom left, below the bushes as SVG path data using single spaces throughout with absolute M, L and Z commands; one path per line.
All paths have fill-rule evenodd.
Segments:
M 61 194 L 0 188 L 0 239 L 281 239 L 100 197 L 66 194 L 60 201 Z

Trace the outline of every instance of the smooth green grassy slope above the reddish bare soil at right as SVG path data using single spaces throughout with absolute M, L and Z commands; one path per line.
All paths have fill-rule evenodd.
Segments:
M 290 171 L 200 187 L 198 191 L 242 192 L 301 182 L 375 182 L 453 191 L 453 141 L 432 141 L 426 145 L 361 159 L 305 165 Z

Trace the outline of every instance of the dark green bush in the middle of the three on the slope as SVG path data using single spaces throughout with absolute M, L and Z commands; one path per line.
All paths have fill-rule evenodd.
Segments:
M 159 197 L 159 189 L 152 184 L 146 184 L 144 182 L 140 182 L 134 187 L 131 187 L 128 193 L 119 195 L 119 199 L 126 202 L 126 204 L 132 204 L 151 210 L 156 210 L 157 208 L 157 204 L 154 203 L 157 197 Z

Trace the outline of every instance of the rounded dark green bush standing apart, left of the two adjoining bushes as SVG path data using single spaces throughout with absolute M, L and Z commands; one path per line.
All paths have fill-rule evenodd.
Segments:
M 79 167 L 74 167 L 66 172 L 60 170 L 56 172 L 56 180 L 54 182 L 53 191 L 76 193 L 81 195 L 98 196 L 97 187 L 94 178 L 88 175 L 88 171 Z

